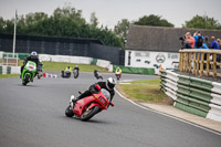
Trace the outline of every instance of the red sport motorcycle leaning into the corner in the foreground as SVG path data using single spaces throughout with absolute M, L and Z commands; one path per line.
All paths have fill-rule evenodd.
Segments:
M 70 105 L 65 109 L 65 115 L 67 117 L 74 116 L 81 120 L 88 120 L 103 109 L 107 109 L 109 105 L 114 106 L 114 103 L 110 102 L 109 92 L 105 88 L 101 90 L 98 84 L 96 85 L 96 88 L 98 90 L 97 94 L 84 97 L 75 104 L 72 103 L 72 99 L 74 98 L 74 95 L 72 95 Z

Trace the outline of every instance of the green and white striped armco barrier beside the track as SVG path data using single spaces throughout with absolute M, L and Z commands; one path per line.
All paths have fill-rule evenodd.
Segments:
M 221 83 L 160 72 L 161 90 L 173 99 L 175 107 L 221 122 Z

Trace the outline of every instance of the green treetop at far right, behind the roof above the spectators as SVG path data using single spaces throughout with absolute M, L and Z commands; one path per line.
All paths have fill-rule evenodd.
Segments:
M 213 18 L 209 18 L 208 15 L 196 15 L 191 20 L 186 21 L 182 24 L 183 28 L 194 28 L 194 29 L 217 29 L 221 30 L 221 24 L 214 20 Z

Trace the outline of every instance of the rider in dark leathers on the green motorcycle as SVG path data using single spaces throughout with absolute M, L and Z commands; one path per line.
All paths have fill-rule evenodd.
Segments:
M 28 63 L 28 61 L 34 62 L 34 63 L 36 64 L 36 67 L 39 67 L 39 65 L 41 64 L 41 62 L 39 61 L 39 57 L 38 57 L 36 52 L 35 52 L 35 51 L 32 51 L 31 54 L 30 54 L 30 56 L 28 56 L 28 57 L 24 59 L 24 61 L 23 61 L 23 65 L 21 66 L 21 74 L 22 74 L 22 71 L 23 71 L 25 64 Z M 20 74 L 20 77 L 21 77 L 21 74 Z M 35 74 L 34 76 L 36 76 L 36 74 Z

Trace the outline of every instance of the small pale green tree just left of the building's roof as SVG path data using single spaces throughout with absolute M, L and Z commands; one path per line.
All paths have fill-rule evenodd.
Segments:
M 129 21 L 127 19 L 122 19 L 117 22 L 117 25 L 114 28 L 114 32 L 122 39 L 126 39 L 126 35 L 129 30 Z

